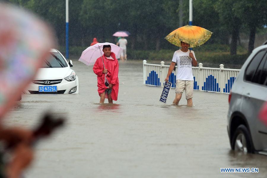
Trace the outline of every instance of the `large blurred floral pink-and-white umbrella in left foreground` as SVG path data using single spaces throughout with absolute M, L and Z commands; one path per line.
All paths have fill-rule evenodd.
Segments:
M 0 3 L 0 118 L 15 104 L 54 45 L 45 23 L 23 9 Z

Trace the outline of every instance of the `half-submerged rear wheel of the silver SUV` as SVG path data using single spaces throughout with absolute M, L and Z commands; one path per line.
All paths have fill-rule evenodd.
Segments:
M 246 126 L 239 125 L 236 128 L 232 140 L 232 149 L 244 153 L 253 152 L 251 137 Z

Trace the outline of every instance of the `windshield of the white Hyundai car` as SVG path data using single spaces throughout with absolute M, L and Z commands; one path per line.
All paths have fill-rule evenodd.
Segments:
M 61 68 L 67 66 L 66 61 L 62 58 L 60 53 L 50 52 L 50 55 L 45 59 L 42 68 Z

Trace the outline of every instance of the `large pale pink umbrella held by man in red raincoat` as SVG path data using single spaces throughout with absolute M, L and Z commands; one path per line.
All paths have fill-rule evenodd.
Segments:
M 86 48 L 80 57 L 78 61 L 81 61 L 82 63 L 92 66 L 95 64 L 96 59 L 101 57 L 103 55 L 102 49 L 103 45 L 110 45 L 111 46 L 111 52 L 113 52 L 116 55 L 116 58 L 120 58 L 120 54 L 123 51 L 123 48 L 113 44 L 113 43 L 96 43 L 93 46 L 90 46 Z

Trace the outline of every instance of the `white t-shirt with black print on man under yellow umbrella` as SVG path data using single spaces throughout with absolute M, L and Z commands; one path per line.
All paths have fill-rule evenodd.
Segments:
M 190 80 L 194 81 L 192 70 L 192 58 L 189 56 L 190 51 L 186 53 L 181 50 L 177 50 L 173 54 L 172 62 L 177 63 L 176 80 Z M 191 50 L 195 59 L 195 53 Z

